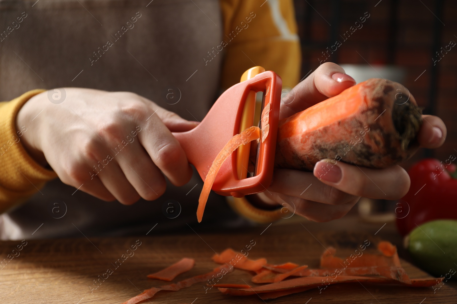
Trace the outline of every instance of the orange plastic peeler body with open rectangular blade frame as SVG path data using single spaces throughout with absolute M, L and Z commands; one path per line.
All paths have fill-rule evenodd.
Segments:
M 282 80 L 275 72 L 262 72 L 255 77 L 228 88 L 213 104 L 202 122 L 187 132 L 175 132 L 187 160 L 195 166 L 205 180 L 218 153 L 234 135 L 239 134 L 244 103 L 250 91 L 264 92 L 263 108 L 270 104 L 270 130 L 265 141 L 260 140 L 257 153 L 256 175 L 238 178 L 236 151 L 225 160 L 218 172 L 212 190 L 223 196 L 243 197 L 265 191 L 273 177 L 276 135 L 281 103 Z M 262 126 L 260 126 L 261 129 Z

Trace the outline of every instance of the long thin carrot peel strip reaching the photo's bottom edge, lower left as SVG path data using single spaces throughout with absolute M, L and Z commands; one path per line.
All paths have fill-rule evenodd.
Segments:
M 138 294 L 137 296 L 135 296 L 132 299 L 124 302 L 123 304 L 137 304 L 137 303 L 139 303 L 141 301 L 144 301 L 144 300 L 147 300 L 147 299 L 151 299 L 152 297 L 154 297 L 154 295 L 156 293 L 158 293 L 161 290 L 178 291 L 180 289 L 190 287 L 191 285 L 193 285 L 195 283 L 205 282 L 208 279 L 213 278 L 213 276 L 217 276 L 217 275 L 220 275 L 220 274 L 224 275 L 224 274 L 229 273 L 231 271 L 233 271 L 233 268 L 229 268 L 227 266 L 221 266 L 221 267 L 215 268 L 210 273 L 206 273 L 206 274 L 198 275 L 198 276 L 195 276 L 195 277 L 192 277 L 192 278 L 188 278 L 188 279 L 183 280 L 183 281 L 178 282 L 178 283 L 146 289 L 141 294 Z

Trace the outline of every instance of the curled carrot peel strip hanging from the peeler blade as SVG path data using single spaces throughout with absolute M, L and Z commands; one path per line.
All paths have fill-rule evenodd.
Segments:
M 205 182 L 203 183 L 203 189 L 198 199 L 197 207 L 197 220 L 202 222 L 203 211 L 205 211 L 206 202 L 208 200 L 209 193 L 213 187 L 216 175 L 218 175 L 219 169 L 222 167 L 223 162 L 236 150 L 239 146 L 250 143 L 252 140 L 260 138 L 260 129 L 258 127 L 250 127 L 245 129 L 240 134 L 236 134 L 232 139 L 228 141 L 223 147 L 221 152 L 216 156 L 211 165 L 211 168 L 206 175 Z

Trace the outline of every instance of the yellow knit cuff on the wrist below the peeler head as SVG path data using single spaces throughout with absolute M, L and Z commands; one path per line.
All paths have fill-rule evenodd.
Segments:
M 276 210 L 263 210 L 256 208 L 245 197 L 227 196 L 227 202 L 232 209 L 240 216 L 244 216 L 250 221 L 267 224 L 275 222 L 281 218 L 281 208 Z

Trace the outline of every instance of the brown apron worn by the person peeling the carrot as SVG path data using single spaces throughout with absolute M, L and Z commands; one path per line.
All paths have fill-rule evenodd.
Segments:
M 35 1 L 0 1 L 0 100 L 34 88 L 130 91 L 200 121 L 217 97 L 223 54 L 202 59 L 222 41 L 217 0 Z M 201 189 L 194 174 L 156 201 L 124 206 L 53 180 L 2 216 L 1 237 L 146 234 L 156 223 L 151 233 L 193 233 Z M 198 231 L 241 224 L 212 194 Z

